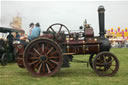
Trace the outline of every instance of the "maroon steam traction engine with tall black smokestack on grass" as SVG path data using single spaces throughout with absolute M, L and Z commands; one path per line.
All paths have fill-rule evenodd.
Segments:
M 72 55 L 90 54 L 89 64 L 99 76 L 113 76 L 119 69 L 117 57 L 110 53 L 110 42 L 104 37 L 104 7 L 98 8 L 100 36 L 95 37 L 93 29 L 86 24 L 84 32 L 70 33 L 63 24 L 53 24 L 27 47 L 17 45 L 17 63 L 33 76 L 53 76 L 59 71 L 64 58 Z M 55 30 L 55 26 L 59 30 Z M 62 29 L 66 29 L 62 31 Z M 63 60 L 64 58 L 64 60 Z

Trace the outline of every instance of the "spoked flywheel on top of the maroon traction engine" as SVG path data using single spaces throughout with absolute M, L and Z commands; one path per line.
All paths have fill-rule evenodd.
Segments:
M 57 25 L 58 25 L 58 27 L 59 27 L 59 30 L 56 32 L 56 31 L 55 31 L 55 27 L 56 27 Z M 70 34 L 70 31 L 68 30 L 68 28 L 67 28 L 65 25 L 60 24 L 60 23 L 52 24 L 51 26 L 48 27 L 47 31 L 50 31 L 50 30 L 51 30 L 51 31 L 54 32 L 55 34 L 59 35 L 62 29 L 66 29 L 67 32 L 68 32 L 68 34 Z

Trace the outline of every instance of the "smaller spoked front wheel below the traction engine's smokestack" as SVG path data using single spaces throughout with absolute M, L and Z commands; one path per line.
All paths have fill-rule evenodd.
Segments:
M 102 52 L 95 57 L 93 67 L 99 76 L 113 76 L 118 72 L 119 61 L 114 54 Z

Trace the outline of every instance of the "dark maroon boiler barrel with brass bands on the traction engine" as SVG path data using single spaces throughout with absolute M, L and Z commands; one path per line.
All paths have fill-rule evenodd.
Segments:
M 91 54 L 100 52 L 100 43 L 94 38 L 89 38 L 86 41 L 68 41 L 66 43 L 66 53 L 72 54 Z

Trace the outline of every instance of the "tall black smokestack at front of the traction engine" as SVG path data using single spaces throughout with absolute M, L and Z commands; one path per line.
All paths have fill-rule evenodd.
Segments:
M 104 12 L 105 12 L 105 9 L 104 9 L 104 6 L 99 6 L 98 8 L 98 14 L 99 14 L 99 31 L 100 31 L 100 37 L 104 37 L 104 34 L 105 34 L 105 25 L 104 25 Z

